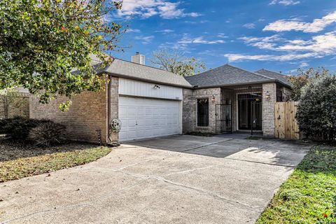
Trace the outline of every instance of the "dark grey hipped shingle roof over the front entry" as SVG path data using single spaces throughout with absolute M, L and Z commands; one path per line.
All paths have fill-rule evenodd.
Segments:
M 235 66 L 225 64 L 216 69 L 205 71 L 195 76 L 187 76 L 188 82 L 198 87 L 216 87 L 225 85 L 242 85 L 248 83 L 264 83 L 274 80 L 258 73 L 239 69 Z

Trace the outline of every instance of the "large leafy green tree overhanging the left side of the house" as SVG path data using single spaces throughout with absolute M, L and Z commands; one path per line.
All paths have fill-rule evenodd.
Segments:
M 101 66 L 111 62 L 105 52 L 118 48 L 125 29 L 108 18 L 121 6 L 107 0 L 1 0 L 0 89 L 22 86 L 42 103 L 57 94 L 99 90 L 102 79 L 91 56 Z

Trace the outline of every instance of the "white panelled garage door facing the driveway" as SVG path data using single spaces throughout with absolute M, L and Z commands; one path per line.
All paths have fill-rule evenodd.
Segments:
M 179 112 L 179 101 L 119 97 L 119 140 L 181 134 Z

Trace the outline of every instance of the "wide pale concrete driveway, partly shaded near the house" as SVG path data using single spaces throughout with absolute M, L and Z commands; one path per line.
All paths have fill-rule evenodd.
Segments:
M 231 138 L 230 138 L 231 137 Z M 1 223 L 253 223 L 310 146 L 174 136 L 0 185 Z

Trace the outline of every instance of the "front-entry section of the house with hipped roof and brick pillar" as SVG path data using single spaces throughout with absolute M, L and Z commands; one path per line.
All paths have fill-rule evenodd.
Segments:
M 275 134 L 275 103 L 286 99 L 286 76 L 261 69 L 251 72 L 225 64 L 186 77 L 183 90 L 184 132 L 262 132 Z

